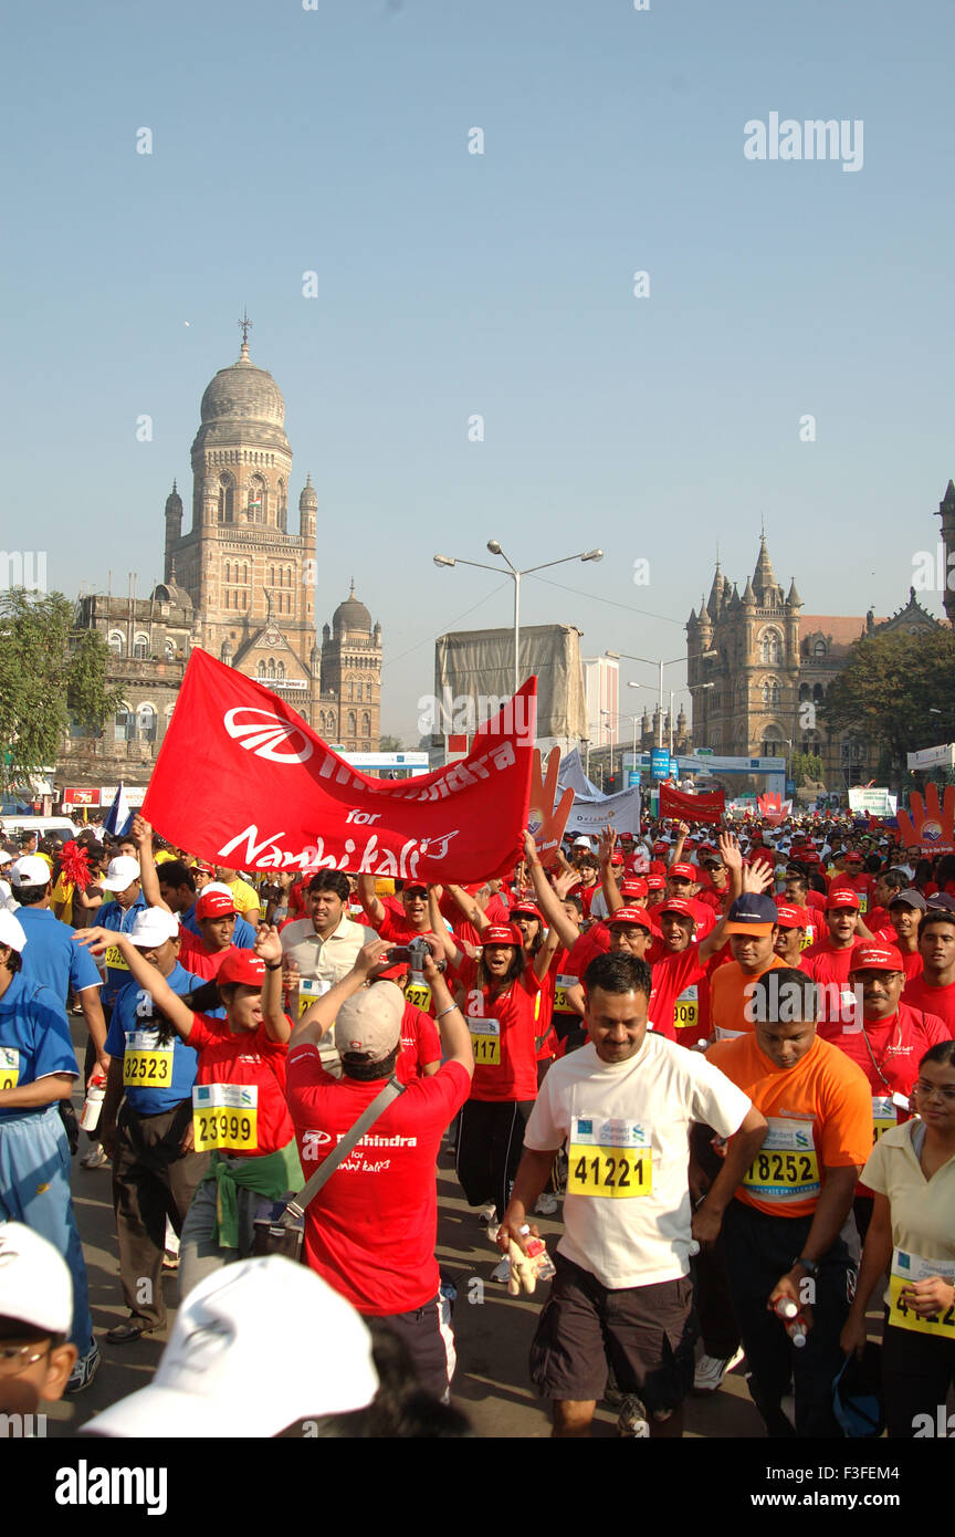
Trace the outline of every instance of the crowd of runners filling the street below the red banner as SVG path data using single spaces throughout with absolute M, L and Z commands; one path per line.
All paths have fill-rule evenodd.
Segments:
M 163 1330 L 172 1268 L 155 1379 L 84 1432 L 467 1436 L 444 1147 L 487 1282 L 539 1288 L 514 1383 L 556 1436 L 600 1402 L 680 1436 L 743 1360 L 769 1437 L 860 1434 L 866 1405 L 929 1434 L 955 1383 L 955 856 L 849 816 L 735 827 L 645 818 L 547 862 L 525 833 L 510 879 L 445 887 L 213 867 L 141 816 L 0 845 L 0 1411 Z M 72 1157 L 112 1179 L 104 1339 Z M 298 1371 L 240 1423 L 236 1374 L 306 1310 Z

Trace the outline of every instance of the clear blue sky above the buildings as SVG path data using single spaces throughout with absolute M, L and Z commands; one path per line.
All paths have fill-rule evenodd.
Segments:
M 742 586 L 760 516 L 806 612 L 903 604 L 955 473 L 952 6 L 649 3 L 11 12 L 3 546 L 68 593 L 107 567 L 146 592 L 247 304 L 295 500 L 318 490 L 319 624 L 355 572 L 407 744 L 433 636 L 511 615 L 510 583 L 435 550 L 603 546 L 553 573 L 576 592 L 522 593 L 585 653 L 676 656 L 717 543 Z M 745 158 L 771 112 L 861 120 L 863 168 Z

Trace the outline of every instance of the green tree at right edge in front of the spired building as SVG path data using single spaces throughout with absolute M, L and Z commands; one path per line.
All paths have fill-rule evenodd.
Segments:
M 906 753 L 955 739 L 955 633 L 940 626 L 904 635 L 863 636 L 818 705 L 831 732 L 881 742 L 892 784 L 906 778 Z

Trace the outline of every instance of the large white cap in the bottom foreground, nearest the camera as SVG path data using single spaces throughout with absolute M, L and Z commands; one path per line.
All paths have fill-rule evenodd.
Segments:
M 147 1388 L 83 1426 L 124 1437 L 266 1437 L 364 1409 L 372 1336 L 350 1302 L 279 1254 L 213 1271 L 180 1305 Z

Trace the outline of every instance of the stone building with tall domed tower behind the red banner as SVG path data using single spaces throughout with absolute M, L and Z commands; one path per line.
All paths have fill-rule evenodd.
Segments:
M 103 633 L 123 707 L 98 736 L 74 722 L 57 778 L 64 785 L 144 784 L 193 646 L 256 678 L 344 752 L 378 747 L 381 626 L 352 592 L 315 627 L 318 495 L 312 478 L 289 529 L 292 447 L 286 403 L 249 357 L 215 375 L 192 444 L 192 518 L 177 483 L 166 498 L 164 579 L 147 598 L 80 598 L 80 629 Z

